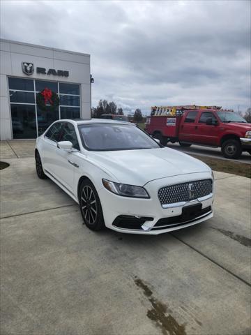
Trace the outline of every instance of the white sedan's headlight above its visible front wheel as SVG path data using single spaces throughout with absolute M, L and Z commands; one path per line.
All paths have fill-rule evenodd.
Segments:
M 108 191 L 123 197 L 130 198 L 150 198 L 144 187 L 114 183 L 107 179 L 102 179 L 102 184 Z

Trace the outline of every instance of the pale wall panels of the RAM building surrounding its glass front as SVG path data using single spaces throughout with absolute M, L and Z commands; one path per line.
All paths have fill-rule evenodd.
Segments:
M 33 63 L 33 75 L 22 72 L 22 61 Z M 68 77 L 36 73 L 36 67 L 69 71 Z M 10 103 L 8 96 L 8 75 L 56 82 L 71 82 L 81 85 L 81 117 L 91 118 L 90 102 L 90 55 L 58 50 L 50 47 L 0 41 L 0 140 L 12 138 Z

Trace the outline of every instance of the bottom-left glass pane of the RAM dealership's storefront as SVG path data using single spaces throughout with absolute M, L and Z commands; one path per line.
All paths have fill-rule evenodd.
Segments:
M 13 138 L 36 138 L 35 105 L 11 104 Z

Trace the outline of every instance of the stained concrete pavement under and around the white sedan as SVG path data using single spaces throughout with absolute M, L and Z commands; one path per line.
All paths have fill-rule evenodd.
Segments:
M 33 146 L 1 142 L 1 335 L 250 334 L 251 179 L 215 172 L 215 216 L 191 228 L 91 232 Z

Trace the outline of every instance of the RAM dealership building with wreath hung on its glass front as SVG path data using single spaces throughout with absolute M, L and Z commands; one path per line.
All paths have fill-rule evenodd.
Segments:
M 0 140 L 36 138 L 58 119 L 90 119 L 90 55 L 2 40 Z

